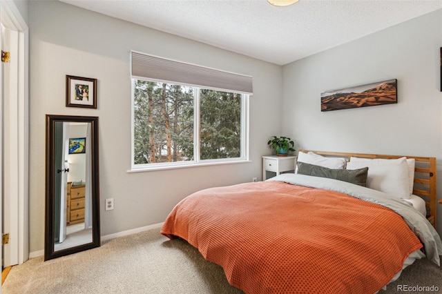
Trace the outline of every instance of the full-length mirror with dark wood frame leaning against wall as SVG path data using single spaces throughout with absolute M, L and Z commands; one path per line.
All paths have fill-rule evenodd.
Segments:
M 98 117 L 46 115 L 44 259 L 100 245 Z

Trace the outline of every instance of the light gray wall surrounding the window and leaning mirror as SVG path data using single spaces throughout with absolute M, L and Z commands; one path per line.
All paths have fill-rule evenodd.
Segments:
M 280 66 L 59 1 L 30 1 L 28 12 L 30 252 L 44 248 L 46 114 L 99 117 L 102 235 L 163 222 L 180 199 L 196 190 L 262 177 L 261 155 L 270 153 L 267 140 L 280 130 Z M 131 166 L 130 50 L 252 75 L 252 162 L 126 173 Z M 97 109 L 65 107 L 66 75 L 98 80 Z M 114 210 L 104 211 L 106 198 L 114 198 Z

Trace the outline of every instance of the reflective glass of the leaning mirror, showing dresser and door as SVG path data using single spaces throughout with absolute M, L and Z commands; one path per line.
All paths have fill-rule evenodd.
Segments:
M 55 182 L 60 183 L 54 223 L 54 250 L 58 251 L 92 242 L 90 123 L 55 122 L 55 141 L 61 150 L 55 159 L 59 178 Z

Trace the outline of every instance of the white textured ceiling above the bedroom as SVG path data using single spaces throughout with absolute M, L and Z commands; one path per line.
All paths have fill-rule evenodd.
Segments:
M 442 0 L 60 1 L 280 65 L 442 9 Z

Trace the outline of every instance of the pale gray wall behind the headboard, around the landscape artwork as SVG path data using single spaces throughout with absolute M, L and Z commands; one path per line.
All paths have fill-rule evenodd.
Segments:
M 284 66 L 282 130 L 296 149 L 436 157 L 442 199 L 441 47 L 437 10 Z M 321 92 L 387 79 L 398 104 L 320 112 Z

